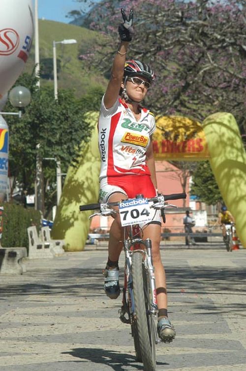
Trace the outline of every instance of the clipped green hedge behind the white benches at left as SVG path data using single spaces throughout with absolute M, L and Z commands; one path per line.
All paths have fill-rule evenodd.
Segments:
M 35 225 L 37 231 L 40 230 L 41 216 L 39 211 L 31 208 L 25 209 L 12 202 L 4 203 L 3 207 L 1 245 L 3 247 L 27 247 L 28 249 L 27 228 Z

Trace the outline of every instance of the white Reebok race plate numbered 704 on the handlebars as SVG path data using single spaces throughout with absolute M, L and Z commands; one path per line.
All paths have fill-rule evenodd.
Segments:
M 147 199 L 125 200 L 119 206 L 122 226 L 148 223 L 152 220 L 151 208 Z

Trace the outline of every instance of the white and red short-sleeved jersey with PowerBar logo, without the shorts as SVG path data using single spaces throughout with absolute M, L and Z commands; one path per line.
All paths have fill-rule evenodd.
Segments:
M 155 129 L 154 115 L 141 107 L 141 117 L 136 122 L 131 109 L 121 98 L 108 109 L 103 99 L 98 122 L 100 180 L 126 174 L 150 175 L 146 152 Z

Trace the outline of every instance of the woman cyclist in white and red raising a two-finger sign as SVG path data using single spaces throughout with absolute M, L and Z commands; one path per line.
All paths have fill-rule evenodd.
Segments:
M 127 20 L 122 9 L 123 23 L 119 26 L 121 43 L 114 57 L 111 78 L 102 98 L 98 141 L 101 155 L 100 201 L 118 202 L 156 196 L 156 174 L 152 134 L 154 115 L 140 103 L 154 81 L 153 70 L 137 60 L 125 60 L 133 36 L 133 10 Z M 175 337 L 174 327 L 167 315 L 165 271 L 160 258 L 160 212 L 153 210 L 153 219 L 143 228 L 144 239 L 153 243 L 158 323 L 157 331 L 163 341 Z M 119 256 L 123 248 L 119 214 L 110 229 L 108 262 L 105 269 L 105 292 L 111 299 L 120 295 Z

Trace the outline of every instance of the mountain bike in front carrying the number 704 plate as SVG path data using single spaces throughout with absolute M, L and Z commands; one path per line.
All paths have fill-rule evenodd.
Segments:
M 123 323 L 131 325 L 136 360 L 143 363 L 145 371 L 155 371 L 155 345 L 160 340 L 158 340 L 154 323 L 158 308 L 152 261 L 152 241 L 149 238 L 143 240 L 143 229 L 139 224 L 150 221 L 151 208 L 161 210 L 165 222 L 164 209 L 177 207 L 166 201 L 184 198 L 186 198 L 185 193 L 158 195 L 148 199 L 143 195 L 137 195 L 135 199 L 127 199 L 122 202 L 92 203 L 80 206 L 80 211 L 100 209 L 99 213 L 92 214 L 90 218 L 95 215 L 108 216 L 116 212 L 120 213 L 123 226 L 125 267 L 123 299 L 119 316 Z M 118 206 L 119 211 L 113 209 L 114 206 Z

